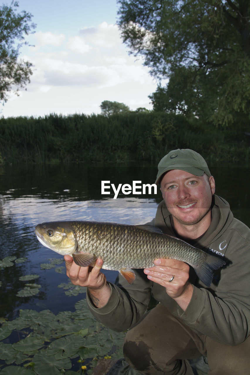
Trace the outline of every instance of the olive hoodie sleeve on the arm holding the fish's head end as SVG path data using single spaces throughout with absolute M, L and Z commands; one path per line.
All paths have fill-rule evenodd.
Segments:
M 152 282 L 145 278 L 143 270 L 134 270 L 136 280 L 130 285 L 118 275 L 110 285 L 111 294 L 105 306 L 96 308 L 86 293 L 87 305 L 92 315 L 104 326 L 122 332 L 133 326 L 146 311 L 151 299 Z

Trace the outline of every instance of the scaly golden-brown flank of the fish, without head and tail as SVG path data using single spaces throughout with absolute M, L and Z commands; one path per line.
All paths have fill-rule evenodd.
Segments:
M 78 251 L 84 249 L 94 253 L 96 259 L 102 258 L 102 268 L 108 270 L 114 267 L 152 267 L 155 258 L 175 258 L 191 265 L 202 262 L 204 258 L 202 251 L 197 252 L 196 248 L 175 237 L 170 237 L 170 243 L 168 236 L 148 232 L 136 226 L 96 223 L 84 228 L 76 225 L 75 234 Z

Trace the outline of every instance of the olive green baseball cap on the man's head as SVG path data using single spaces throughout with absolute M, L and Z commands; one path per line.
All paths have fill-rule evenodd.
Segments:
M 161 159 L 155 184 L 159 183 L 164 173 L 172 169 L 181 169 L 195 176 L 202 176 L 205 172 L 208 177 L 211 176 L 205 159 L 189 148 L 172 150 Z

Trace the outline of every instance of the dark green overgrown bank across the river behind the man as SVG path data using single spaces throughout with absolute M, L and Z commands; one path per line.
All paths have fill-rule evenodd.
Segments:
M 155 162 L 175 148 L 192 148 L 208 162 L 248 162 L 246 131 L 157 112 L 9 117 L 0 119 L 0 163 Z

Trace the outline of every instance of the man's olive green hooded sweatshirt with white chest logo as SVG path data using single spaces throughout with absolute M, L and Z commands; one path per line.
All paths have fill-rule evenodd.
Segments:
M 158 205 L 150 224 L 176 236 L 164 201 Z M 164 287 L 150 281 L 141 269 L 135 270 L 136 280 L 132 285 L 120 275 L 115 285 L 109 283 L 111 295 L 102 308 L 93 305 L 87 291 L 86 299 L 93 316 L 110 329 L 122 332 L 137 323 L 153 296 L 198 335 L 228 345 L 243 342 L 250 334 L 250 229 L 233 217 L 224 199 L 214 195 L 211 224 L 192 245 L 220 257 L 226 265 L 214 272 L 210 287 L 190 267 L 194 291 L 185 311 L 168 296 Z

